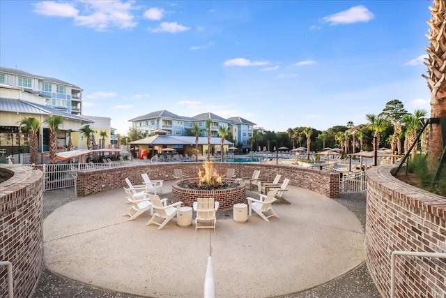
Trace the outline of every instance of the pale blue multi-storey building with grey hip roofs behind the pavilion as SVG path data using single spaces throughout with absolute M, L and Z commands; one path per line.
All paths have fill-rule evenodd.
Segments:
M 219 137 L 218 128 L 229 128 L 236 144 L 242 144 L 242 148 L 249 148 L 249 138 L 253 134 L 253 126 L 256 125 L 242 117 L 231 117 L 224 119 L 223 117 L 206 112 L 198 114 L 194 117 L 179 116 L 167 110 L 150 112 L 130 119 L 132 127 L 139 129 L 143 133 L 151 134 L 154 131 L 162 129 L 167 135 L 185 136 L 187 129 L 192 128 L 196 123 L 199 128 L 206 128 L 206 120 L 210 119 L 210 131 L 212 137 Z M 202 137 L 207 135 L 206 131 L 201 133 Z

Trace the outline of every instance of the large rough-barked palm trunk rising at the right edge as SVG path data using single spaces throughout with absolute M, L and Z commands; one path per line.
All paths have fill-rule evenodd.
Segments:
M 429 47 L 426 49 L 428 58 L 424 64 L 427 66 L 427 75 L 422 75 L 427 80 L 431 97 L 431 118 L 446 117 L 446 33 L 445 33 L 445 2 L 433 0 L 431 8 L 432 18 L 429 24 Z M 431 124 L 429 133 L 428 163 L 431 169 L 438 163 L 438 158 L 443 154 L 443 144 L 440 123 Z

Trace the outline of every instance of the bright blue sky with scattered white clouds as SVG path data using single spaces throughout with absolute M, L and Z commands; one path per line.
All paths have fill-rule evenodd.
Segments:
M 269 131 L 366 123 L 421 77 L 431 1 L 0 0 L 0 64 L 84 89 L 84 114 L 243 117 Z

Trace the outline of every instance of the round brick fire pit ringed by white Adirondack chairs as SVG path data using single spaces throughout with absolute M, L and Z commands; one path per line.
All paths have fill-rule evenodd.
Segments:
M 226 211 L 231 210 L 234 204 L 244 203 L 246 200 L 246 186 L 243 181 L 223 179 L 224 181 L 236 182 L 238 186 L 211 191 L 179 186 L 179 184 L 187 183 L 187 181 L 198 180 L 198 178 L 191 178 L 179 180 L 172 184 L 172 202 L 183 202 L 182 206 L 192 207 L 193 202 L 196 202 L 197 198 L 214 198 L 215 201 L 220 202 L 220 207 L 217 211 Z

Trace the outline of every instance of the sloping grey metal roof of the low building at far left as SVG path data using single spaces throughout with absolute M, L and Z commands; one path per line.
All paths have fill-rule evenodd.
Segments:
M 84 117 L 80 117 L 74 114 L 68 114 L 61 110 L 56 110 L 51 107 L 45 107 L 44 105 L 38 105 L 37 103 L 30 103 L 29 101 L 22 99 L 0 98 L 0 111 L 46 114 L 47 116 L 56 114 L 68 119 L 81 121 L 81 124 L 89 124 L 94 122 Z

